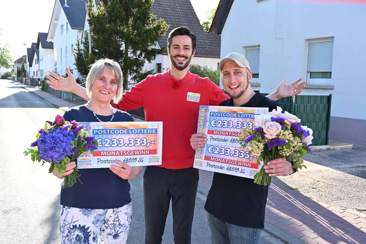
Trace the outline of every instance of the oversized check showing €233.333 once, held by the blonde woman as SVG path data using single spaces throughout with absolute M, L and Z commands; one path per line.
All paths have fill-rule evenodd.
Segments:
M 77 161 L 81 168 L 109 168 L 115 160 L 130 166 L 161 165 L 163 122 L 81 122 L 98 141 L 94 154 Z

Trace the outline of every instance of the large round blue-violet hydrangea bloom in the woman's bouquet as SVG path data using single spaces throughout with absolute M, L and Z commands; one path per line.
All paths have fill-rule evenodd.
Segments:
M 49 133 L 42 132 L 38 139 L 38 151 L 41 159 L 58 163 L 66 155 L 71 155 L 71 141 L 75 135 L 72 131 L 60 127 L 49 129 Z

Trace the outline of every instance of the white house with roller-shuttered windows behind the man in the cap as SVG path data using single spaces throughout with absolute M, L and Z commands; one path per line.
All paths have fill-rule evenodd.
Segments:
M 224 24 L 220 27 L 218 21 L 210 29 L 221 34 L 221 58 L 230 52 L 245 55 L 256 74 L 253 83 L 263 93 L 275 90 L 284 78 L 289 83 L 302 78 L 307 81 L 302 95 L 332 94 L 329 139 L 366 145 L 366 109 L 362 105 L 366 33 L 361 31 L 366 4 L 222 2 L 222 9 L 232 3 L 225 16 L 216 12 L 216 18 L 225 19 Z

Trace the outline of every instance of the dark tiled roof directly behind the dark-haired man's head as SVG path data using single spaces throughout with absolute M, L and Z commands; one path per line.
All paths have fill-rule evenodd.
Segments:
M 220 58 L 221 36 L 202 29 L 190 0 L 155 0 L 150 12 L 170 25 L 166 35 L 158 41 L 162 48 L 165 47 L 164 54 L 168 54 L 166 46 L 170 31 L 180 26 L 186 26 L 197 37 L 194 56 Z

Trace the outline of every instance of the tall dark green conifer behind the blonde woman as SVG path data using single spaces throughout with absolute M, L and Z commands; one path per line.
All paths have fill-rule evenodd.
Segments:
M 154 48 L 169 25 L 150 13 L 153 0 L 101 0 L 95 10 L 93 0 L 86 6 L 92 53 L 120 64 L 127 89 L 128 75 L 142 71 L 145 60 L 153 61 L 164 52 Z M 84 40 L 85 41 L 85 40 Z

